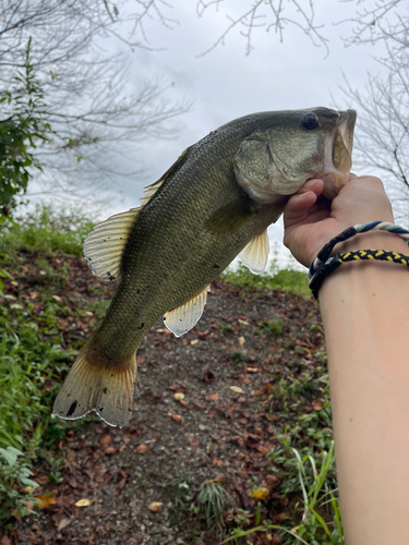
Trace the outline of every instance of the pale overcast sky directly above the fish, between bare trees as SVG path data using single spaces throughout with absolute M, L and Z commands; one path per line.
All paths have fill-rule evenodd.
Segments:
M 226 2 L 230 14 L 233 14 L 231 10 L 242 13 L 249 4 L 250 0 Z M 306 0 L 301 4 L 306 7 Z M 122 192 L 122 201 L 107 213 L 136 206 L 143 187 L 157 180 L 184 148 L 227 121 L 255 111 L 334 107 L 334 101 L 346 107 L 339 89 L 342 73 L 352 87 L 363 88 L 366 72 L 382 71 L 372 57 L 380 55 L 378 46 L 346 48 L 341 36 L 350 34 L 350 24 L 333 25 L 353 15 L 356 2 L 314 1 L 315 22 L 325 25 L 321 33 L 328 38 L 328 55 L 324 47 L 315 47 L 302 29 L 289 24 L 282 44 L 274 29 L 269 33 L 258 29 L 253 36 L 254 50 L 250 56 L 245 56 L 245 39 L 234 31 L 227 36 L 225 46 L 197 57 L 226 28 L 224 4 L 218 12 L 215 8 L 208 9 L 202 19 L 197 19 L 195 0 L 175 0 L 175 5 L 173 10 L 164 5 L 164 13 L 179 22 L 173 29 L 165 28 L 157 21 L 146 25 L 151 46 L 163 50 L 134 50 L 130 84 L 137 89 L 147 80 L 164 78 L 173 83 L 167 94 L 169 99 L 192 100 L 193 106 L 176 121 L 182 128 L 179 137 L 149 138 L 135 148 L 135 157 L 148 169 L 147 177 L 116 182 L 112 191 Z M 296 12 L 286 14 L 300 21 Z M 111 43 L 107 47 L 111 47 Z M 281 241 L 281 223 L 273 226 L 269 233 L 270 240 Z

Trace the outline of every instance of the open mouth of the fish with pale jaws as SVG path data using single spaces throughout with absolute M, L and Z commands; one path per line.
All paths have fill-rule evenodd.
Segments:
M 329 199 L 336 197 L 349 180 L 356 120 L 356 110 L 340 111 L 338 124 L 325 140 L 324 173 L 316 178 L 324 181 L 323 195 Z

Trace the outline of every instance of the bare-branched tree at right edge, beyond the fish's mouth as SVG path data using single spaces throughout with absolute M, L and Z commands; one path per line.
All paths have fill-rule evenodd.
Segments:
M 386 76 L 368 74 L 365 89 L 353 88 L 346 78 L 348 104 L 358 109 L 356 162 L 386 174 L 399 216 L 408 220 L 409 201 L 409 32 L 408 9 L 401 0 L 364 7 L 353 20 L 347 46 L 383 41 L 378 59 Z

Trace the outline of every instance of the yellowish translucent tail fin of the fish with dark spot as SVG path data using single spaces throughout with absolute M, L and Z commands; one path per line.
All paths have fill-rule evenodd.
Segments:
M 56 399 L 53 413 L 76 420 L 95 411 L 111 426 L 124 426 L 131 417 L 136 379 L 136 353 L 121 365 L 94 363 L 91 342 L 76 358 Z M 93 352 L 93 360 L 95 359 Z

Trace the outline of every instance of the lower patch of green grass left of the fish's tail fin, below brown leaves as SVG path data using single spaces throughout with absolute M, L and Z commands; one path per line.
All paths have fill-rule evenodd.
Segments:
M 33 305 L 15 306 L 0 307 L 0 521 L 12 511 L 28 511 L 27 502 L 36 487 L 29 476 L 59 388 L 53 378 L 68 371 L 75 353 L 39 334 L 41 326 L 34 320 Z M 50 315 L 41 322 L 52 326 Z

